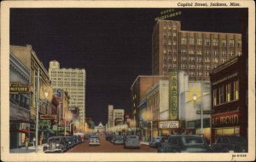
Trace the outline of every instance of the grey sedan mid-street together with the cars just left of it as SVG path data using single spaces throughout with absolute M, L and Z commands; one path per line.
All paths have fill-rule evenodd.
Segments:
M 113 136 L 107 135 L 106 140 L 113 144 L 122 144 L 124 148 L 141 148 L 141 142 L 139 136 Z

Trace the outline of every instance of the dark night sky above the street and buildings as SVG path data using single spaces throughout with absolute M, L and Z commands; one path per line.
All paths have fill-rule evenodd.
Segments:
M 86 116 L 108 120 L 108 104 L 131 111 L 131 84 L 151 74 L 151 34 L 166 9 L 11 9 L 10 44 L 31 44 L 48 70 L 85 68 Z M 247 9 L 175 9 L 182 30 L 246 34 Z

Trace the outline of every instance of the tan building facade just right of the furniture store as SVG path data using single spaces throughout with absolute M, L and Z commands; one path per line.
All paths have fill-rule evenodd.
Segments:
M 43 63 L 39 61 L 36 52 L 32 49 L 31 45 L 26 46 L 16 46 L 10 45 L 10 54 L 15 55 L 15 57 L 29 69 L 29 95 L 30 95 L 30 139 L 35 136 L 36 129 L 36 110 L 38 107 L 37 102 L 41 100 L 48 99 L 46 104 L 39 106 L 39 116 L 49 114 L 52 91 L 50 88 L 49 74 L 46 71 Z M 38 79 L 39 76 L 39 79 Z M 38 83 L 39 80 L 39 83 Z M 46 98 L 44 96 L 44 88 L 48 90 L 49 96 Z M 40 122 L 39 122 L 40 123 Z M 42 132 L 39 130 L 39 134 Z

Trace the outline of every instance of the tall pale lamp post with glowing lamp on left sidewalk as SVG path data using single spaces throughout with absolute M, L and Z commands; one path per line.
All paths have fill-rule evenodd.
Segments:
M 44 91 L 44 96 L 47 98 L 49 95 L 49 91 Z M 40 71 L 38 69 L 38 100 L 37 102 L 37 116 L 36 116 L 36 153 L 38 153 L 38 122 L 39 122 L 39 108 L 42 106 L 46 101 L 40 100 Z

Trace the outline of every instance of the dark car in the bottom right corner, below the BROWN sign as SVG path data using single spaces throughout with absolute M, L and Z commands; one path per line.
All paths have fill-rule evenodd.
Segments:
M 247 139 L 243 136 L 218 136 L 212 144 L 215 153 L 247 153 Z

